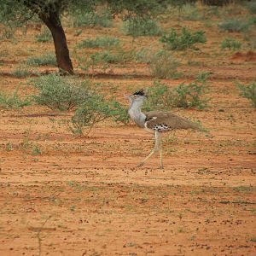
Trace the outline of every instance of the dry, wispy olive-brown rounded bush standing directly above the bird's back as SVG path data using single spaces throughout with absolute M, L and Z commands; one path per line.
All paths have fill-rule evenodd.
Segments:
M 177 73 L 178 61 L 166 50 L 151 52 L 148 55 L 150 73 L 158 79 L 172 79 L 179 77 Z

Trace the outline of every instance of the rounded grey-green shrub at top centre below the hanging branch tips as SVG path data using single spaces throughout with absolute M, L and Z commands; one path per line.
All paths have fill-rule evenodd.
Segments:
M 162 29 L 155 20 L 142 17 L 125 20 L 122 31 L 125 35 L 134 38 L 139 36 L 159 36 L 162 34 Z

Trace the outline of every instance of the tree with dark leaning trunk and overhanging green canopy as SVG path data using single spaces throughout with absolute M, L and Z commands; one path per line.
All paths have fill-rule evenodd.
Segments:
M 15 20 L 18 23 L 39 19 L 49 28 L 55 44 L 55 55 L 60 70 L 73 74 L 73 64 L 69 56 L 67 39 L 61 25 L 61 15 L 74 9 L 96 11 L 97 6 L 109 9 L 113 16 L 121 15 L 129 19 L 137 15 L 154 15 L 162 9 L 166 0 L 0 0 L 0 22 Z

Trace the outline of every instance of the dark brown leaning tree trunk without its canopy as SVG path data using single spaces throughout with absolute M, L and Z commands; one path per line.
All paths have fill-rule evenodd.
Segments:
M 58 67 L 61 71 L 74 74 L 72 61 L 69 57 L 67 48 L 67 39 L 65 32 L 61 26 L 61 20 L 56 11 L 50 11 L 48 14 L 38 14 L 39 18 L 49 28 L 55 44 L 55 54 Z

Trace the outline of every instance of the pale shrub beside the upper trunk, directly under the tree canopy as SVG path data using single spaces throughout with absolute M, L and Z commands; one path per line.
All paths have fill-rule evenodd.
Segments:
M 83 12 L 79 10 L 72 15 L 72 26 L 113 26 L 112 15 L 108 11 L 103 12 Z

